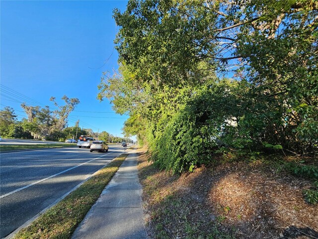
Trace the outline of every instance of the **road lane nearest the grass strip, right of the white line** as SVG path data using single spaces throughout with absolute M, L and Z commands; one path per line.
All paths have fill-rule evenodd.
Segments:
M 2 198 L 0 237 L 13 232 L 120 154 L 121 151 L 102 155 L 96 160 Z

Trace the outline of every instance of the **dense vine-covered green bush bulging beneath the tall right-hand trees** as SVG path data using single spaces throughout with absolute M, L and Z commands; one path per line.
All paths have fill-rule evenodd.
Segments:
M 246 81 L 230 80 L 197 89 L 179 112 L 149 125 L 147 139 L 153 160 L 161 169 L 191 172 L 213 162 L 220 146 L 251 152 L 264 148 L 264 141 L 280 142 L 275 138 L 277 128 L 271 126 L 284 123 L 274 107 L 277 103 L 255 103 L 248 99 L 250 91 Z M 282 149 L 278 143 L 265 147 Z

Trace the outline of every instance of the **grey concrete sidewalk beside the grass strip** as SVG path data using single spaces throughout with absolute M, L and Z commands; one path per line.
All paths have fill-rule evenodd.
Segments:
M 72 239 L 147 239 L 137 159 L 128 155 Z

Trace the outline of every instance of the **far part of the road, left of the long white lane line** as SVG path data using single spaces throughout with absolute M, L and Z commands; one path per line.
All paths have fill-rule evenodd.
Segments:
M 113 147 L 108 153 L 112 151 L 121 150 Z M 1 196 L 92 160 L 98 154 L 102 155 L 90 153 L 87 148 L 63 148 L 1 155 Z

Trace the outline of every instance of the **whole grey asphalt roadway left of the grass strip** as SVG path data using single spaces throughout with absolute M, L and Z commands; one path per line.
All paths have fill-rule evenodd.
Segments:
M 91 153 L 88 148 L 1 153 L 0 238 L 123 152 L 121 146 L 109 145 L 107 153 Z

